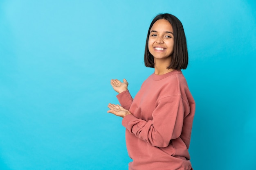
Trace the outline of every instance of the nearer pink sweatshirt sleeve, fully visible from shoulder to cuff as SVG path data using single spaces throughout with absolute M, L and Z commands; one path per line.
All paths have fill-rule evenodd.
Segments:
M 133 115 L 123 118 L 122 124 L 139 139 L 151 146 L 166 147 L 171 139 L 180 137 L 184 120 L 184 104 L 181 96 L 168 96 L 157 102 L 153 120 L 142 120 Z M 187 105 L 187 104 L 186 104 Z

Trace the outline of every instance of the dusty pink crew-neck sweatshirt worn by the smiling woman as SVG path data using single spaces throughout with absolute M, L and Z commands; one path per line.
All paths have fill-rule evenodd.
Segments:
M 117 98 L 132 113 L 122 120 L 129 170 L 191 170 L 195 101 L 180 70 L 151 74 L 134 99 L 128 90 Z

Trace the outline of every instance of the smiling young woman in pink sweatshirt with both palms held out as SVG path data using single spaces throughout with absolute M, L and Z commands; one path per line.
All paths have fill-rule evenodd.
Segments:
M 108 113 L 123 118 L 129 170 L 191 170 L 189 143 L 195 101 L 181 69 L 188 65 L 186 37 L 180 20 L 157 15 L 148 29 L 146 67 L 155 69 L 132 99 L 128 82 L 111 80 L 121 104 Z

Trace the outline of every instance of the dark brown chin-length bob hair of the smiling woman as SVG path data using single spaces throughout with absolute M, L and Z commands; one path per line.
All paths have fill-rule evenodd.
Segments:
M 145 53 L 144 53 L 144 62 L 146 67 L 154 68 L 154 57 L 150 54 L 148 50 L 148 38 L 150 35 L 150 29 L 152 28 L 153 24 L 157 20 L 167 20 L 170 22 L 171 26 L 173 27 L 173 38 L 174 38 L 174 47 L 173 47 L 173 54 L 171 54 L 171 64 L 167 67 L 168 69 L 175 69 L 181 70 L 186 69 L 188 62 L 189 62 L 189 54 L 188 49 L 186 46 L 186 36 L 184 33 L 184 29 L 180 20 L 171 15 L 169 13 L 159 14 L 157 15 L 153 21 L 151 22 L 148 28 L 148 35 L 146 40 L 145 46 Z

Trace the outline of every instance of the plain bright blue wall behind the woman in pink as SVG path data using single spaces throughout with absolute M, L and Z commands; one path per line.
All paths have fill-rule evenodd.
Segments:
M 195 170 L 255 169 L 255 0 L 1 0 L 0 169 L 125 170 L 111 78 L 132 96 L 158 13 L 183 23 Z

